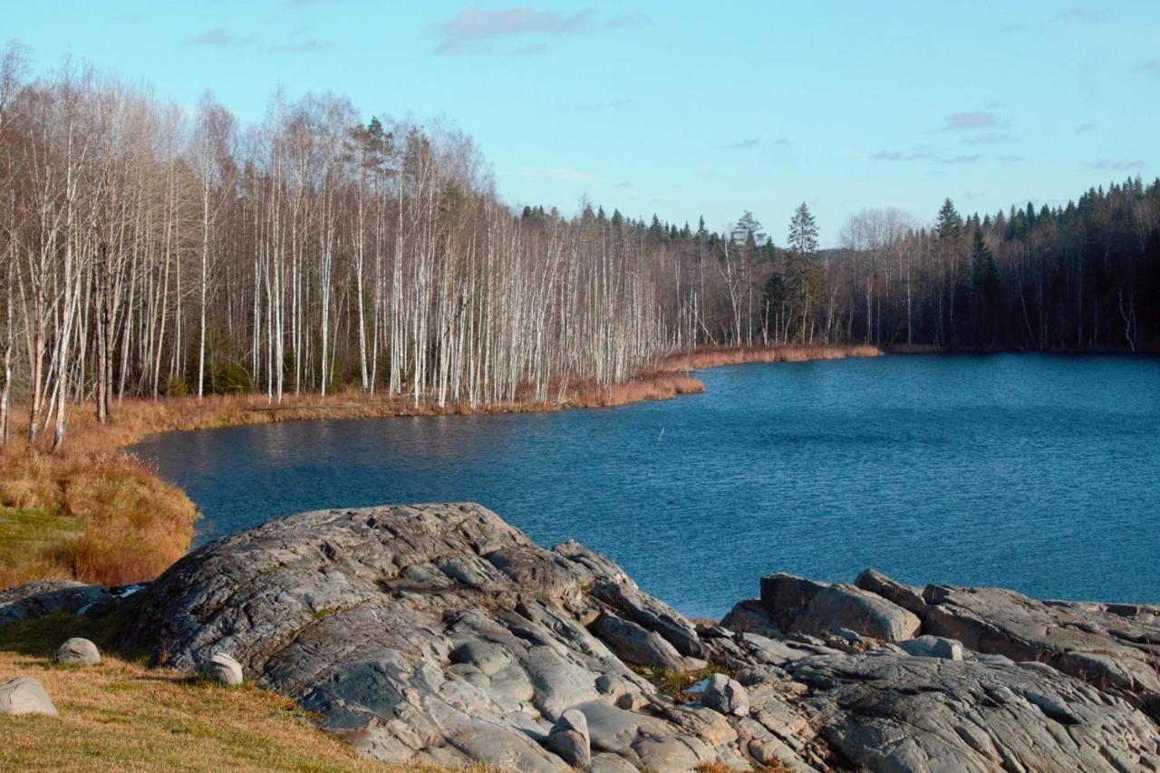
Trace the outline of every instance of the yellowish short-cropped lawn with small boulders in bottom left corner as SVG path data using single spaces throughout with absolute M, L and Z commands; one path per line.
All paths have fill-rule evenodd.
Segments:
M 107 652 L 113 630 L 109 621 L 71 615 L 0 628 L 0 682 L 32 677 L 60 711 L 5 717 L 0 770 L 404 770 L 357 757 L 293 701 L 252 685 L 222 687 L 108 655 L 93 667 L 52 664 L 70 636 Z

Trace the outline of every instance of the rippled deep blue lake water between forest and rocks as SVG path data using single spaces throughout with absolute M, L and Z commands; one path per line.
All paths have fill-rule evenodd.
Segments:
M 616 409 L 157 435 L 205 539 L 278 515 L 478 501 L 687 614 L 789 571 L 1160 602 L 1160 360 L 883 356 L 699 374 Z

